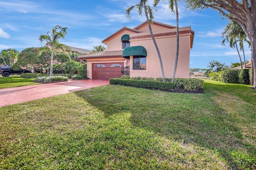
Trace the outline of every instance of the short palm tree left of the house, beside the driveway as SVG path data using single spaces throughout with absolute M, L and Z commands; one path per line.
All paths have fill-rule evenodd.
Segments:
M 52 28 L 51 31 L 48 31 L 46 35 L 42 34 L 39 37 L 40 42 L 42 43 L 43 41 L 45 41 L 46 45 L 50 48 L 52 53 L 50 63 L 50 76 L 52 76 L 52 61 L 54 50 L 62 49 L 63 51 L 65 51 L 66 49 L 68 49 L 66 45 L 59 43 L 60 39 L 65 39 L 65 35 L 67 35 L 67 29 L 67 27 L 62 28 L 62 26 L 56 25 L 54 28 Z

